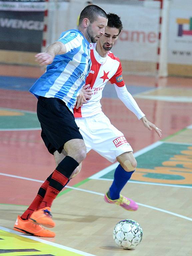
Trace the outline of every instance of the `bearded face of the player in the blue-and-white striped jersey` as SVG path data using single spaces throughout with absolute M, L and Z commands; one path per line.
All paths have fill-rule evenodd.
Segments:
M 97 40 L 104 35 L 105 27 L 107 26 L 107 19 L 98 16 L 97 20 L 87 27 L 87 36 L 91 43 L 96 43 Z

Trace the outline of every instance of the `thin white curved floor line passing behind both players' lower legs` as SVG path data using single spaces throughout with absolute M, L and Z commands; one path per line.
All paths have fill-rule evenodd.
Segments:
M 19 178 L 19 179 L 24 179 L 24 180 L 37 181 L 37 182 L 41 182 L 41 183 L 44 182 L 42 180 L 35 180 L 35 179 L 30 179 L 30 178 L 16 176 L 16 175 L 11 175 L 11 174 L 6 174 L 6 173 L 0 173 L 0 175 L 14 177 L 14 178 Z M 95 195 L 104 196 L 103 193 L 98 193 L 98 192 L 95 192 L 95 191 L 86 190 L 86 189 L 82 189 L 82 188 L 75 188 L 75 187 L 70 187 L 70 186 L 66 186 L 66 188 L 70 188 L 70 189 L 74 189 L 74 190 L 79 190 L 79 191 L 82 191 L 82 192 L 87 192 L 87 193 L 91 193 L 91 194 L 95 194 Z M 189 217 L 186 217 L 186 216 L 174 213 L 174 212 L 166 211 L 166 210 L 163 210 L 163 209 L 160 209 L 160 208 L 157 208 L 157 207 L 153 207 L 153 206 L 150 206 L 150 205 L 146 205 L 146 204 L 140 204 L 140 203 L 137 203 L 137 204 L 140 205 L 140 206 L 144 206 L 146 208 L 150 208 L 150 209 L 153 209 L 153 210 L 157 210 L 157 211 L 160 211 L 160 212 L 164 212 L 164 213 L 167 213 L 167 214 L 170 214 L 170 215 L 177 216 L 177 217 L 182 218 L 182 219 L 186 219 L 186 220 L 192 221 L 192 218 L 189 218 Z

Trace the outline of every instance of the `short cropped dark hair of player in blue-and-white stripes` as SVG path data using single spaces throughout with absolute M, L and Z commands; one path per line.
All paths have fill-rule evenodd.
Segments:
M 84 18 L 87 18 L 90 20 L 91 23 L 97 20 L 98 16 L 102 16 L 107 19 L 107 14 L 106 12 L 101 9 L 97 5 L 87 5 L 81 12 L 80 17 L 79 17 L 79 24 L 83 21 Z

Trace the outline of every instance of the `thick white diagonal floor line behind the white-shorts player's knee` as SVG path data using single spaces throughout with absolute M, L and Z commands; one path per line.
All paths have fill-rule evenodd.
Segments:
M 143 148 L 143 149 L 141 149 L 141 150 L 135 152 L 133 155 L 134 155 L 134 157 L 140 156 L 140 155 L 142 155 L 142 154 L 148 152 L 149 150 L 158 147 L 159 145 L 161 145 L 161 144 L 163 144 L 163 143 L 164 143 L 163 141 L 157 141 L 157 142 L 155 142 L 155 143 L 153 143 L 153 144 L 151 144 L 151 145 L 149 145 L 149 146 L 147 146 L 147 147 L 145 147 L 145 148 Z M 119 162 L 114 163 L 114 164 L 108 166 L 107 168 L 103 169 L 102 171 L 97 172 L 97 173 L 95 173 L 94 175 L 90 176 L 89 179 L 99 179 L 99 178 L 102 177 L 103 175 L 105 175 L 105 174 L 107 174 L 108 172 L 114 170 L 118 165 L 119 165 Z

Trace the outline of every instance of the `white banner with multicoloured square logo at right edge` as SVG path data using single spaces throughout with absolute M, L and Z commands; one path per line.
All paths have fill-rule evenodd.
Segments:
M 170 8 L 168 63 L 192 65 L 192 12 Z

